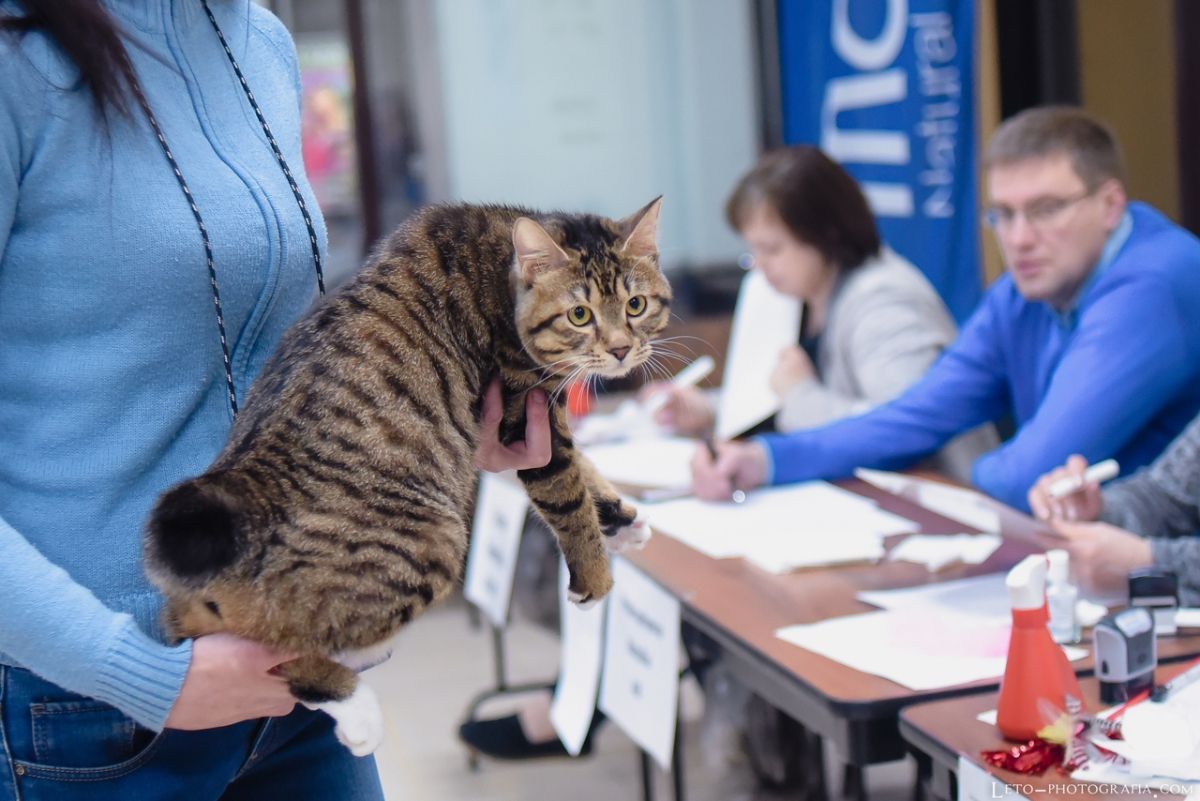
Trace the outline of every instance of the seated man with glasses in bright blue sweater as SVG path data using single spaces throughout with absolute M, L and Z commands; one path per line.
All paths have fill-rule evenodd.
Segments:
M 1200 410 L 1200 241 L 1127 201 L 1115 138 L 1080 109 L 1012 118 L 984 167 L 1007 275 L 925 378 L 859 417 L 700 448 L 697 495 L 904 468 L 1007 415 L 1015 434 L 972 480 L 1027 508 L 1068 456 L 1132 472 L 1183 430 Z

